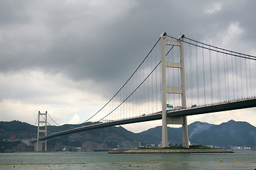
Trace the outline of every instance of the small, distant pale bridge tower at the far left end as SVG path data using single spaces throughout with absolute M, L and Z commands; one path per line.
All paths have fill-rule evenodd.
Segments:
M 43 120 L 40 120 L 40 118 L 43 118 Z M 47 140 L 39 140 L 42 133 L 44 136 L 47 135 L 47 111 L 45 113 L 38 111 L 38 137 L 34 146 L 35 152 L 43 152 L 43 145 L 45 152 L 47 152 Z

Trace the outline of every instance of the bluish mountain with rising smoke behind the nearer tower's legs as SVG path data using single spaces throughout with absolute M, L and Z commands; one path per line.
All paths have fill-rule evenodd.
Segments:
M 188 129 L 191 144 L 226 148 L 230 146 L 252 148 L 256 145 L 256 128 L 247 122 L 229 120 L 227 123 L 221 123 L 221 125 L 194 122 L 189 125 Z M 145 135 L 145 139 L 148 141 L 151 137 L 159 142 L 162 137 L 162 127 L 151 128 L 140 132 L 140 135 Z M 152 142 L 155 141 L 152 140 Z M 182 128 L 168 128 L 168 141 L 170 143 L 182 143 Z

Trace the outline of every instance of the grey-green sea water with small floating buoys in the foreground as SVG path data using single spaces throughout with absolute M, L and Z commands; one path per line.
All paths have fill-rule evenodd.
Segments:
M 234 153 L 108 154 L 1 153 L 0 169 L 256 169 L 255 151 Z

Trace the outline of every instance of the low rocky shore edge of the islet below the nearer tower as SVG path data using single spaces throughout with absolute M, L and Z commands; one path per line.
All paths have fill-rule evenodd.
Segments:
M 132 149 L 110 150 L 108 154 L 156 154 L 156 153 L 232 153 L 227 149 Z

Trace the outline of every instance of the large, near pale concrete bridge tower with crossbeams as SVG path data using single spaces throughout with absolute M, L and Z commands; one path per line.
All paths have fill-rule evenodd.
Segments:
M 162 57 L 162 147 L 168 146 L 167 124 L 182 125 L 182 146 L 189 147 L 189 135 L 187 128 L 187 116 L 181 117 L 167 117 L 167 94 L 181 94 L 182 108 L 186 106 L 186 81 L 185 81 L 185 67 L 184 67 L 184 35 L 179 36 L 178 41 L 166 40 L 167 33 L 161 34 L 161 57 Z M 179 46 L 179 60 L 180 62 L 166 62 L 166 45 Z M 180 69 L 180 87 L 167 86 L 166 69 L 178 68 Z

